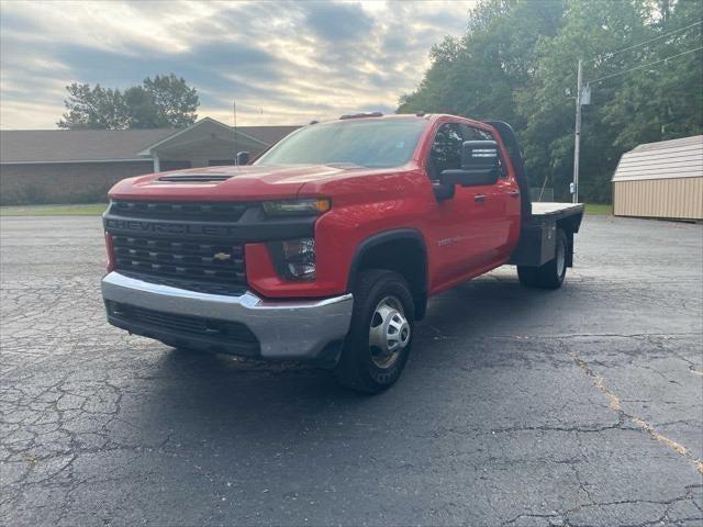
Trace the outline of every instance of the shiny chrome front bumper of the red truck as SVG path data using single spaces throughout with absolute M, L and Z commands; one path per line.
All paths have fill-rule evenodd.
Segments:
M 257 337 L 260 357 L 265 359 L 317 358 L 327 344 L 346 336 L 354 304 L 352 294 L 323 300 L 272 301 L 249 291 L 241 296 L 200 293 L 114 271 L 102 279 L 102 296 L 161 313 L 244 324 Z

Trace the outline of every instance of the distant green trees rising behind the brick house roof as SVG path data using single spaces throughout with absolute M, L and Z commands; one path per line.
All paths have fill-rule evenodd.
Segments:
M 174 74 L 147 77 L 124 92 L 77 82 L 66 90 L 59 128 L 180 128 L 196 122 L 200 105 L 197 90 Z

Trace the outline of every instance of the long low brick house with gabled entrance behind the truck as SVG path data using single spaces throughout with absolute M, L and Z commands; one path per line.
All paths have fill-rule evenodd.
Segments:
M 0 131 L 0 203 L 101 202 L 131 176 L 231 165 L 298 126 L 238 126 L 204 117 L 182 130 Z

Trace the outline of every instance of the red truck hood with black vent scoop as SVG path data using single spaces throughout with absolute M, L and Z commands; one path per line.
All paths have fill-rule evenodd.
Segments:
M 372 170 L 333 165 L 191 168 L 125 179 L 110 190 L 110 198 L 179 201 L 294 198 L 305 183 L 350 172 L 368 175 Z

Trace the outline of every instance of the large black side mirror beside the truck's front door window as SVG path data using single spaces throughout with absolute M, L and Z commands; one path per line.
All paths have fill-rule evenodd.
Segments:
M 443 170 L 439 181 L 444 186 L 477 187 L 493 184 L 500 176 L 500 155 L 494 141 L 465 141 L 461 168 Z

